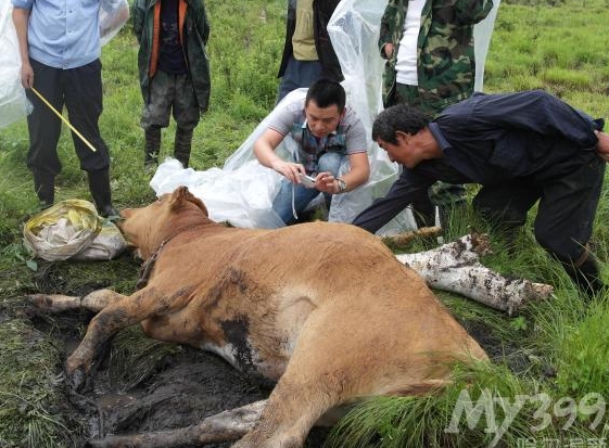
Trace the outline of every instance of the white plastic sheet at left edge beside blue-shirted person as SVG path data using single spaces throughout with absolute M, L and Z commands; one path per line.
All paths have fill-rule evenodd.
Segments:
M 21 56 L 10 0 L 0 1 L 0 129 L 31 112 L 21 85 Z

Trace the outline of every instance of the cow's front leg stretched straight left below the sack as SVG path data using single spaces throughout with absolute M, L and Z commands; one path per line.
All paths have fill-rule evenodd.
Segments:
M 112 290 L 98 290 L 87 294 L 85 297 L 61 294 L 31 294 L 28 296 L 28 299 L 39 310 L 56 313 L 77 309 L 99 312 L 125 297 L 123 294 Z

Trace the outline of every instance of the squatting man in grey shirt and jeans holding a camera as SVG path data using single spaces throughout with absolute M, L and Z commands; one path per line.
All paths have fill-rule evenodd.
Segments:
M 345 101 L 340 82 L 319 79 L 304 100 L 278 106 L 281 108 L 274 111 L 268 128 L 254 142 L 258 162 L 284 177 L 272 208 L 287 225 L 294 222 L 319 192 L 328 201 L 332 194 L 352 191 L 368 180 L 366 129 Z M 288 135 L 297 145 L 294 161 L 275 153 Z M 350 170 L 339 177 L 345 157 Z M 305 175 L 313 177 L 314 183 L 304 184 Z

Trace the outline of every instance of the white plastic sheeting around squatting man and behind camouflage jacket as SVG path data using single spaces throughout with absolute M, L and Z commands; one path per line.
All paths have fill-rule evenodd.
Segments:
M 353 220 L 375 197 L 383 195 L 398 175 L 397 164 L 391 163 L 386 153 L 370 138 L 373 118 L 382 108 L 381 82 L 384 61 L 380 57 L 377 42 L 385 5 L 386 1 L 379 0 L 342 0 L 328 24 L 332 46 L 345 77 L 343 86 L 347 92 L 347 104 L 355 110 L 368 130 L 368 156 L 371 167 L 371 177 L 367 184 L 350 193 L 333 196 L 328 217 L 330 221 Z M 489 17 L 474 28 L 479 67 L 477 87 L 480 86 L 480 89 L 497 8 L 498 2 Z M 305 94 L 306 89 L 295 90 L 286 97 L 283 103 Z M 281 107 L 281 103 L 278 107 Z M 251 228 L 282 226 L 279 217 L 270 209 L 281 176 L 259 165 L 253 154 L 253 144 L 267 128 L 270 116 L 265 118 L 227 158 L 221 170 L 185 170 L 177 161 L 167 159 L 158 167 L 151 187 L 157 195 L 168 193 L 178 185 L 189 187 L 193 194 L 203 200 L 211 216 L 216 220 L 227 220 L 234 226 Z M 277 151 L 283 157 L 291 157 L 294 144 L 288 137 Z M 347 166 L 341 169 L 347 169 Z M 254 188 L 255 185 L 257 188 Z M 378 233 L 390 234 L 415 227 L 413 215 L 406 209 Z

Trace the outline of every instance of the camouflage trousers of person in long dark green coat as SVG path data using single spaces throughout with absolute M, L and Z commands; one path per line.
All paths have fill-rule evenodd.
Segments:
M 201 112 L 190 74 L 170 75 L 158 71 L 150 80 L 149 102 L 144 104 L 141 127 L 166 128 L 172 113 L 178 127 L 194 129 Z

